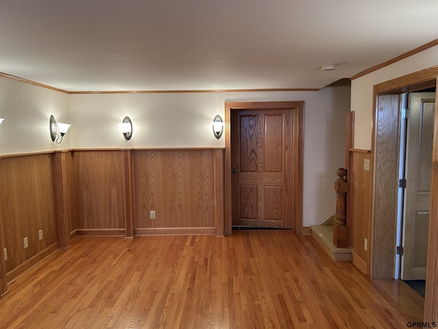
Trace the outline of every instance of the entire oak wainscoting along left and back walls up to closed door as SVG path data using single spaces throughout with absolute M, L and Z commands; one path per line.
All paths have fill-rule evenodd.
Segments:
M 223 153 L 90 149 L 1 158 L 0 243 L 8 260 L 0 262 L 0 295 L 5 282 L 74 236 L 222 236 Z

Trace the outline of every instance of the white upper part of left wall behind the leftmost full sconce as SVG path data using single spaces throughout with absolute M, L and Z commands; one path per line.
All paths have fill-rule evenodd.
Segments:
M 51 114 L 69 121 L 67 94 L 0 77 L 0 155 L 70 148 L 69 134 L 60 145 L 52 142 Z

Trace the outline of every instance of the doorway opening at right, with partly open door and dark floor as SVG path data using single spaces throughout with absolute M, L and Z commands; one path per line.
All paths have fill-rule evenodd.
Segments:
M 425 296 L 436 88 L 400 95 L 394 278 Z

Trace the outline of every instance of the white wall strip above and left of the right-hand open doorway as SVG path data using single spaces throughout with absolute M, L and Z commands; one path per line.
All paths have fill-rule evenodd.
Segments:
M 438 46 L 352 80 L 351 110 L 355 111 L 355 148 L 371 149 L 373 86 L 438 65 Z

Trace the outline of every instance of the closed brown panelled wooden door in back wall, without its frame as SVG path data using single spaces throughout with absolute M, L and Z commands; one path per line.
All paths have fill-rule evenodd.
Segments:
M 292 228 L 292 114 L 231 112 L 233 225 Z

